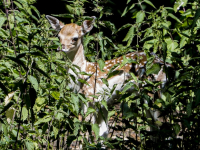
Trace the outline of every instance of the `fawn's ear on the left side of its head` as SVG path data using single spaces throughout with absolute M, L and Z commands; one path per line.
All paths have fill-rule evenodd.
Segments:
M 62 27 L 64 27 L 64 24 L 62 22 L 60 22 L 57 18 L 46 15 L 47 20 L 49 21 L 49 23 L 51 24 L 51 27 L 57 31 L 60 31 L 60 29 L 62 29 Z

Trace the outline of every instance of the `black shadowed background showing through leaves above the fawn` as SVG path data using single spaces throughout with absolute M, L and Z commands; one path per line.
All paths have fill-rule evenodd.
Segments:
M 92 9 L 94 8 L 94 5 L 92 3 L 93 1 L 92 0 L 88 0 L 88 1 L 89 3 L 85 3 L 84 5 L 85 11 L 86 11 L 84 16 L 96 16 L 98 18 L 99 14 L 92 11 Z M 156 9 L 158 9 L 160 6 L 173 7 L 175 0 L 165 0 L 165 1 L 150 0 L 150 1 L 155 5 Z M 133 3 L 136 3 L 136 2 L 138 2 L 138 0 L 132 0 L 130 1 L 128 5 L 132 5 Z M 124 9 L 128 6 L 126 3 L 127 3 L 127 0 L 107 0 L 106 4 L 105 3 L 100 4 L 100 6 L 104 6 L 104 9 L 109 9 L 113 14 L 111 16 L 103 15 L 103 17 L 101 18 L 101 21 L 112 22 L 115 25 L 116 29 L 119 29 L 120 27 L 122 27 L 123 25 L 127 23 L 134 24 L 135 19 L 131 18 L 133 15 L 133 11 L 132 12 L 130 11 L 125 16 L 121 17 L 121 14 L 123 13 Z M 69 4 L 70 3 L 67 0 L 65 1 L 64 0 L 38 0 L 37 3 L 35 3 L 35 6 L 40 11 L 41 14 L 52 15 L 52 14 L 69 13 L 66 8 L 66 5 L 69 5 Z M 143 3 L 143 5 L 146 11 L 155 11 L 155 9 L 152 6 L 146 3 Z M 141 10 L 139 6 L 135 6 L 134 9 Z M 71 19 L 69 18 L 59 18 L 59 17 L 57 18 L 65 24 L 71 23 L 70 21 Z M 97 30 L 98 29 L 93 28 L 93 30 L 91 31 L 91 34 L 98 32 Z M 124 37 L 126 36 L 129 28 L 124 29 L 120 32 L 117 32 L 117 34 L 114 34 L 114 35 L 111 33 L 111 31 L 108 28 L 102 28 L 101 30 L 103 31 L 104 35 L 112 39 L 114 43 L 121 43 Z M 136 45 L 134 41 L 136 40 L 133 40 L 132 45 Z M 126 44 L 126 42 L 124 42 L 124 44 Z

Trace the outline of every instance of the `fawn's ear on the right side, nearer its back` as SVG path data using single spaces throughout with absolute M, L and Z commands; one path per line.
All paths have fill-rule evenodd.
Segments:
M 92 16 L 91 18 L 92 18 L 92 20 L 83 21 L 83 24 L 82 24 L 82 35 L 86 34 L 87 32 L 90 32 L 92 30 L 93 24 L 94 24 L 94 21 L 95 21 L 96 17 Z

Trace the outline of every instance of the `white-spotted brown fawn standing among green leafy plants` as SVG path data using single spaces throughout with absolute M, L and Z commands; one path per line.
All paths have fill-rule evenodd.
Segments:
M 84 20 L 82 25 L 79 26 L 75 23 L 63 24 L 57 18 L 46 15 L 51 27 L 57 30 L 58 38 L 60 40 L 61 47 L 58 51 L 63 51 L 66 53 L 67 57 L 71 60 L 72 64 L 77 65 L 80 68 L 81 72 L 85 72 L 89 75 L 76 75 L 71 69 L 68 70 L 68 73 L 73 74 L 78 79 L 84 79 L 87 81 L 87 85 L 82 85 L 81 83 L 76 84 L 73 81 L 70 81 L 70 87 L 84 94 L 86 97 L 92 99 L 91 95 L 98 95 L 104 89 L 110 90 L 116 85 L 115 90 L 111 96 L 104 97 L 106 99 L 108 107 L 111 106 L 114 101 L 119 97 L 117 91 L 122 91 L 125 81 L 131 78 L 131 73 L 134 73 L 137 78 L 140 78 L 145 75 L 145 65 L 147 63 L 147 55 L 144 51 L 131 52 L 125 56 L 121 56 L 115 59 L 105 61 L 105 66 L 103 70 L 100 70 L 100 67 L 95 62 L 89 62 L 86 60 L 84 55 L 83 47 L 83 36 L 90 32 L 93 28 L 96 17 L 92 16 L 90 20 Z M 151 55 L 155 55 L 151 53 Z M 118 74 L 108 78 L 109 70 L 116 64 L 121 64 L 123 62 L 123 57 L 128 59 L 136 60 L 137 63 L 127 63 L 122 67 L 116 67 L 115 70 L 118 71 Z M 165 63 L 157 55 L 153 63 L 160 64 L 165 67 L 173 66 L 169 63 Z M 152 74 L 155 81 L 162 82 L 162 87 L 167 82 L 166 73 L 164 72 L 163 67 L 158 72 L 158 74 Z M 105 78 L 108 81 L 108 87 L 102 82 L 102 79 Z M 131 82 L 135 83 L 134 80 Z M 131 87 L 129 92 L 134 91 L 134 88 Z M 101 103 L 102 96 L 94 99 L 95 102 Z M 94 103 L 84 105 L 84 112 L 87 112 L 88 107 L 94 107 Z M 108 136 L 108 111 L 103 105 L 101 105 L 102 111 L 97 110 L 97 116 L 94 115 L 93 123 L 97 122 L 99 125 L 99 136 L 107 137 Z M 154 121 L 159 119 L 159 112 L 148 112 L 147 117 L 152 118 Z

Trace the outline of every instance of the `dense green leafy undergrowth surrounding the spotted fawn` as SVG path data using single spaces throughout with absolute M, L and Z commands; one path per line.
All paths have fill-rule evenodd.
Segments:
M 0 148 L 68 149 L 72 141 L 83 139 L 86 148 L 99 149 L 102 137 L 98 137 L 97 124 L 78 119 L 79 114 L 89 115 L 95 110 L 88 109 L 83 114 L 79 101 L 89 100 L 68 87 L 69 79 L 74 77 L 67 73 L 66 67 L 76 66 L 65 53 L 56 52 L 60 45 L 57 32 L 50 28 L 34 3 L 34 0 L 0 2 Z M 148 55 L 150 52 L 172 63 L 174 68 L 164 68 L 169 82 L 162 99 L 156 95 L 161 83 L 132 76 L 139 94 L 127 93 L 133 86 L 127 84 L 118 100 L 123 104 L 121 109 L 109 108 L 109 117 L 114 115 L 117 119 L 122 114 L 123 124 L 114 130 L 123 133 L 132 129 L 136 138 L 103 139 L 104 145 L 111 149 L 199 149 L 199 0 L 176 0 L 171 7 L 158 8 L 150 0 L 127 0 L 123 2 L 127 7 L 118 14 L 112 13 L 114 8 L 109 3 L 115 1 L 72 0 L 66 2 L 68 13 L 54 16 L 81 24 L 89 17 L 84 15 L 85 6 L 91 6 L 97 20 L 95 32 L 84 37 L 89 61 L 103 64 L 106 59 L 144 50 L 148 56 L 146 74 L 161 69 L 159 65 L 151 65 L 154 56 Z M 118 15 L 120 21 L 127 14 L 132 17 L 119 29 L 102 19 Z M 104 33 L 108 29 L 110 35 Z M 122 32 L 123 41 L 116 40 Z M 144 81 L 147 84 L 140 87 Z M 154 94 L 154 98 L 148 93 Z M 149 124 L 145 109 L 159 110 L 164 122 Z M 155 130 L 147 130 L 150 126 Z M 94 136 L 93 131 L 97 141 L 88 142 L 80 134 L 87 131 Z M 156 140 L 152 141 L 151 136 Z

